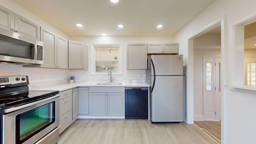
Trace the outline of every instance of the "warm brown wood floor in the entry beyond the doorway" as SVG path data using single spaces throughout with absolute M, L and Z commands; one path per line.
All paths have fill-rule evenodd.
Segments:
M 220 142 L 221 140 L 221 129 L 220 129 L 220 121 L 194 121 L 194 124 L 201 128 L 206 133 L 210 133 L 213 135 L 214 139 Z

